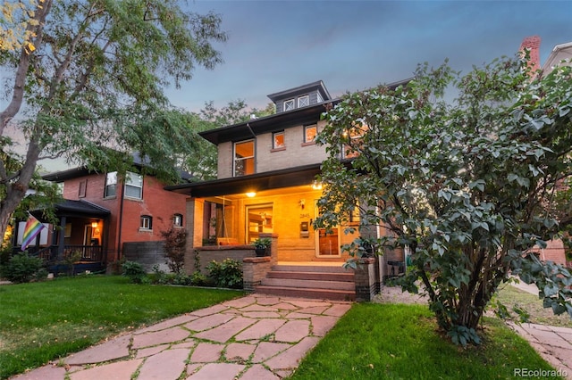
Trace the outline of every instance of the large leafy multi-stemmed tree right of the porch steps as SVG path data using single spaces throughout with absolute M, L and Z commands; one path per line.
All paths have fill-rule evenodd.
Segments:
M 316 223 L 343 225 L 358 207 L 357 229 L 379 226 L 376 244 L 407 249 L 401 284 L 423 288 L 454 342 L 479 341 L 485 307 L 511 274 L 572 317 L 570 273 L 534 254 L 571 221 L 570 67 L 531 78 L 524 60 L 465 76 L 422 65 L 408 85 L 345 95 L 324 118 Z M 364 243 L 345 249 L 360 255 Z

